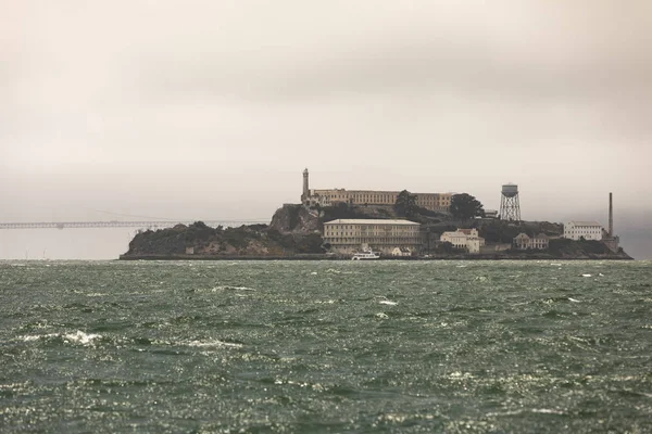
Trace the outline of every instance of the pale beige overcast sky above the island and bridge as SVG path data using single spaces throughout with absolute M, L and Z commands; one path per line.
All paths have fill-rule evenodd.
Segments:
M 308 167 L 312 188 L 486 208 L 514 182 L 532 220 L 606 225 L 613 192 L 616 231 L 652 257 L 648 0 L 0 12 L 0 221 L 264 219 L 299 202 Z

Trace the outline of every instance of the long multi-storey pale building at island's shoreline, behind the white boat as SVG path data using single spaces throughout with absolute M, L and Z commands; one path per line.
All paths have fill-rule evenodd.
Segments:
M 421 225 L 409 220 L 338 219 L 324 224 L 324 242 L 334 253 L 351 254 L 365 248 L 391 255 L 396 247 L 418 252 Z

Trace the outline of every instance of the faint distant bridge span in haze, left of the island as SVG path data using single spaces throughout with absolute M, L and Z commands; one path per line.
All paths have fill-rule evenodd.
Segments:
M 0 222 L 0 229 L 97 229 L 97 228 L 172 228 L 176 225 L 192 225 L 197 220 L 178 221 L 34 221 Z M 201 220 L 210 227 L 268 224 L 268 220 Z

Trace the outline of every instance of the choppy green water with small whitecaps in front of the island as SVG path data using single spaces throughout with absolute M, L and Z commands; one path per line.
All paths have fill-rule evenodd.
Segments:
M 652 263 L 0 263 L 2 432 L 652 432 Z

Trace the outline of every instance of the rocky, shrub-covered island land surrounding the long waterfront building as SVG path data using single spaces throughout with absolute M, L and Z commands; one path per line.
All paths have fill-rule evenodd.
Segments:
M 614 251 L 602 241 L 564 238 L 562 224 L 477 216 L 460 219 L 448 212 L 419 206 L 405 209 L 396 203 L 286 204 L 276 210 L 269 225 L 212 228 L 197 221 L 145 230 L 134 237 L 120 259 L 348 259 L 351 253 L 334 248 L 325 237 L 325 226 L 333 221 L 384 220 L 416 224 L 418 239 L 414 245 L 418 247 L 399 250 L 398 255 L 388 252 L 381 254 L 381 259 L 631 259 L 623 248 Z M 474 240 L 482 240 L 477 252 L 455 244 L 457 238 L 474 234 Z M 544 240 L 546 248 L 539 248 L 532 240 Z

